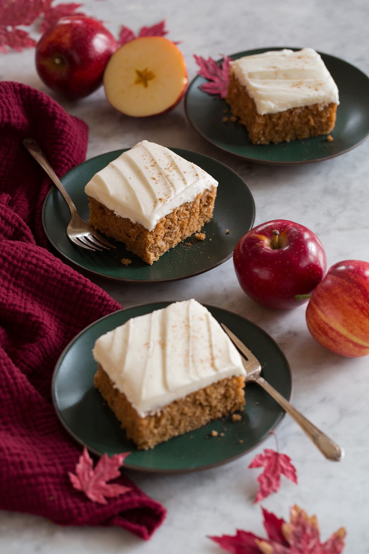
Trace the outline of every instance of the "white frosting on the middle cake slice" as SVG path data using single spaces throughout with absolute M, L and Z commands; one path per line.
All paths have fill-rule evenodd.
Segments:
M 144 140 L 96 173 L 85 193 L 151 231 L 162 217 L 217 185 L 201 167 Z

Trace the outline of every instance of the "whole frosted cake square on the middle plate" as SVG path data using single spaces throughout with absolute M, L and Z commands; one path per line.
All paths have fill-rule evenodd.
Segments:
M 152 264 L 210 221 L 217 186 L 199 166 L 144 140 L 86 184 L 89 222 Z

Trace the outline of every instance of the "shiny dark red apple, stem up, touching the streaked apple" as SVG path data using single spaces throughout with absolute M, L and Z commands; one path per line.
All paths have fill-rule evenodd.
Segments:
M 274 309 L 307 302 L 327 269 L 323 245 L 304 225 L 275 219 L 257 225 L 238 241 L 233 263 L 242 290 L 253 300 Z

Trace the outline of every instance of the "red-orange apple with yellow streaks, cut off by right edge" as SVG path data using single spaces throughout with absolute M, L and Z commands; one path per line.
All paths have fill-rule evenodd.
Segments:
M 311 294 L 306 323 L 315 340 L 336 354 L 369 354 L 369 263 L 332 265 Z

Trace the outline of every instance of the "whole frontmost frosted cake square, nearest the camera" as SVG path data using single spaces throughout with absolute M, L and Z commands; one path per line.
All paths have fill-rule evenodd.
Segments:
M 99 337 L 95 386 L 139 449 L 242 409 L 241 356 L 206 307 L 175 302 Z

